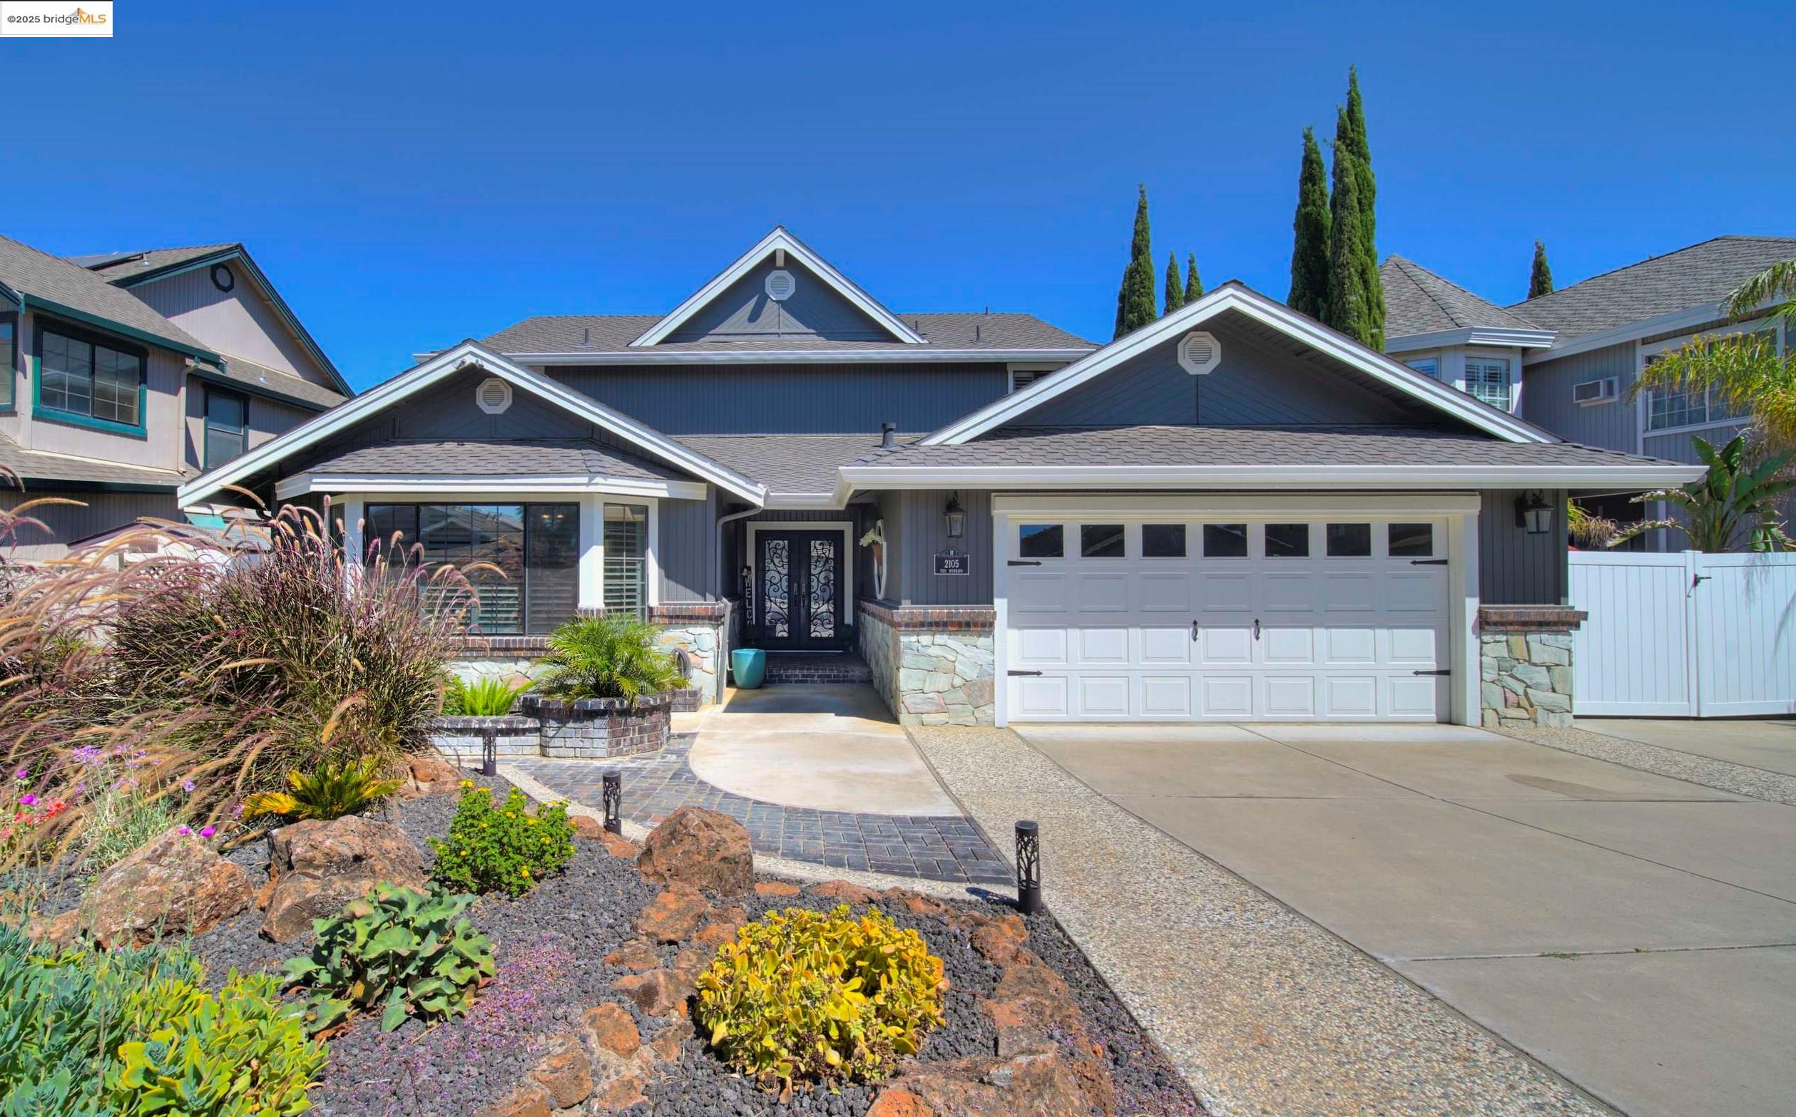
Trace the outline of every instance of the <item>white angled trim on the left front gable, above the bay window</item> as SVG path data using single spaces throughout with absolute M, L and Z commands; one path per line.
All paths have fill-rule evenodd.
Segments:
M 760 483 L 711 462 L 704 454 L 674 442 L 672 438 L 636 422 L 634 418 L 629 418 L 627 415 L 612 411 L 591 397 L 580 395 L 571 388 L 564 388 L 542 374 L 514 365 L 476 341 L 463 341 L 454 348 L 444 350 L 436 357 L 399 374 L 379 388 L 370 388 L 356 399 L 293 427 L 286 435 L 273 438 L 271 442 L 264 442 L 248 454 L 233 458 L 210 472 L 199 474 L 187 485 L 181 485 L 176 497 L 183 506 L 194 501 L 203 501 L 219 488 L 235 485 L 287 454 L 316 445 L 350 424 L 361 422 L 363 418 L 384 409 L 388 404 L 399 402 L 413 391 L 444 381 L 467 366 L 476 366 L 490 372 L 492 375 L 503 377 L 510 381 L 512 386 L 523 388 L 539 399 L 557 404 L 573 415 L 596 424 L 611 435 L 648 451 L 668 465 L 700 476 L 718 488 L 727 488 L 753 505 L 762 505 L 767 499 L 767 488 Z

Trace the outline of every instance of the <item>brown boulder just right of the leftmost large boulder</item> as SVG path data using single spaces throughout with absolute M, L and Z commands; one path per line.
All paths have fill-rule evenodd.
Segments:
M 262 934 L 277 943 L 309 932 L 313 919 L 334 916 L 345 903 L 386 880 L 424 885 L 424 860 L 406 831 L 388 822 L 343 815 L 307 821 L 268 835 L 269 878 Z

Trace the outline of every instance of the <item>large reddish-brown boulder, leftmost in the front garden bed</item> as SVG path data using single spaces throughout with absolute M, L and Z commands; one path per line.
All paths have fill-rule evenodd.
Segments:
M 203 840 L 169 830 L 88 889 L 77 919 L 52 930 L 102 946 L 144 946 L 160 936 L 205 934 L 250 907 L 250 876 Z

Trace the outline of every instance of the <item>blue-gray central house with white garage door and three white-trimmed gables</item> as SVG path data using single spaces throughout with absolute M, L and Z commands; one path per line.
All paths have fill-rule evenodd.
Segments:
M 1566 663 L 1507 638 L 1570 623 L 1566 490 L 1694 476 L 1239 284 L 1099 348 L 894 314 L 781 228 L 665 316 L 426 354 L 181 499 L 329 497 L 352 548 L 494 562 L 496 652 L 639 611 L 706 697 L 747 645 L 858 650 L 907 722 L 1476 724 L 1568 708 L 1548 666 L 1527 708 L 1483 684 Z

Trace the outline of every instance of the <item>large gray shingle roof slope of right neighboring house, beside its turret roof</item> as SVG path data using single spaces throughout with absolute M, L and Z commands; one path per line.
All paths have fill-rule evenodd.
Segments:
M 1789 259 L 1796 259 L 1796 237 L 1713 237 L 1509 309 L 1559 330 L 1559 339 L 1566 341 L 1721 302 L 1755 271 Z

